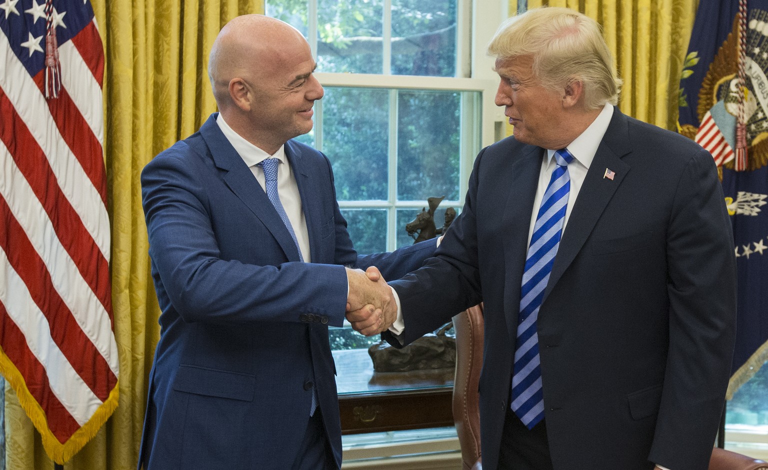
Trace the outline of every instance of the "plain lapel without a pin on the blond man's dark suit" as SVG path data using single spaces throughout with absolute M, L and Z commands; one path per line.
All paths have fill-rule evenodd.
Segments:
M 528 253 L 528 227 L 541 171 L 541 156 L 545 150 L 528 147 L 528 153 L 517 159 L 507 173 L 508 196 L 504 205 L 503 225 L 508 228 L 504 238 L 505 287 L 504 311 L 511 341 L 517 337 L 520 313 L 520 286 L 525 257 Z M 525 226 L 525 230 L 518 227 Z

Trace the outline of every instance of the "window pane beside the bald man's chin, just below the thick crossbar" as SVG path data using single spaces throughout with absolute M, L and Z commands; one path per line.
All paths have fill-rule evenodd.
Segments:
M 323 152 L 333 163 L 339 201 L 387 199 L 388 129 L 389 91 L 326 88 Z

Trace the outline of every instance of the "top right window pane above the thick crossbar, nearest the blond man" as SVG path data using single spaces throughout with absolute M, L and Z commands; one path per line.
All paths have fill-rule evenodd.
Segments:
M 456 0 L 392 0 L 392 74 L 455 77 Z

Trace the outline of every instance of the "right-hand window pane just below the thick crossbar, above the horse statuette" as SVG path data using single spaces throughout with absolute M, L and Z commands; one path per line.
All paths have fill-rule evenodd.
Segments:
M 460 98 L 454 91 L 399 93 L 399 200 L 458 199 Z

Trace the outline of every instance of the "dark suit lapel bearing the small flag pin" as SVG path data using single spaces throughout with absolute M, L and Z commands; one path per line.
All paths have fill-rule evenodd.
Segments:
M 611 117 L 611 123 L 598 146 L 598 152 L 594 155 L 578 199 L 568 217 L 568 224 L 565 226 L 558 254 L 552 265 L 544 295 L 545 300 L 578 255 L 608 202 L 621 185 L 621 180 L 629 173 L 630 166 L 624 163 L 621 157 L 630 152 L 627 117 L 618 109 L 614 109 L 614 116 Z M 604 177 L 606 169 L 611 169 L 615 173 L 614 179 Z

